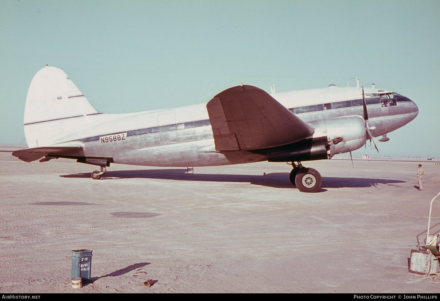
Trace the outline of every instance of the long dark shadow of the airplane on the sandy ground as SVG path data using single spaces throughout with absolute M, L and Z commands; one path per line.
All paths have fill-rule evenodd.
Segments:
M 90 178 L 90 173 L 74 173 L 60 175 L 63 178 Z M 268 173 L 265 176 L 253 175 L 231 175 L 231 174 L 187 174 L 187 169 L 147 169 L 147 170 L 118 170 L 107 172 L 101 180 L 116 179 L 161 179 L 201 182 L 235 182 L 250 183 L 275 188 L 293 188 L 290 183 L 289 173 Z M 100 180 L 100 181 L 101 181 Z M 399 184 L 406 183 L 401 180 L 376 179 L 376 178 L 355 178 L 355 177 L 323 177 L 322 188 L 343 188 L 343 187 L 376 187 L 378 184 Z

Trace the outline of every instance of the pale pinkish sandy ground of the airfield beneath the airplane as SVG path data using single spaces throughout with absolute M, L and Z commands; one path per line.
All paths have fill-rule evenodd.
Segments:
M 3 148 L 4 149 L 4 148 Z M 438 293 L 411 282 L 440 165 L 306 162 L 320 192 L 292 187 L 284 163 L 166 169 L 0 152 L 2 293 Z M 266 173 L 263 176 L 263 173 Z M 440 199 L 431 234 L 440 232 Z M 70 285 L 71 250 L 93 250 L 93 283 Z M 154 285 L 143 282 L 153 279 Z

